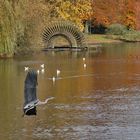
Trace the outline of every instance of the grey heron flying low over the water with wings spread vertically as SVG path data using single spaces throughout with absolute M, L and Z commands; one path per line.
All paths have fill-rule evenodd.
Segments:
M 23 116 L 24 115 L 36 115 L 37 105 L 43 105 L 47 104 L 47 102 L 51 99 L 54 99 L 54 97 L 47 98 L 45 101 L 40 101 L 37 98 L 37 90 L 36 87 L 38 85 L 37 82 L 37 72 L 34 70 L 30 70 L 27 73 L 26 79 L 25 79 L 25 86 L 24 86 L 24 105 L 23 105 Z

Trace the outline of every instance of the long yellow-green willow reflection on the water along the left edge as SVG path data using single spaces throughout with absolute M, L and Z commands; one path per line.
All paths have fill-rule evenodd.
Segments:
M 9 128 L 10 132 L 13 133 L 11 122 L 14 121 L 16 113 L 14 103 L 17 102 L 20 94 L 18 72 L 13 59 L 0 60 L 0 78 L 0 121 L 3 122 L 0 132 L 8 135 Z M 0 135 L 0 139 L 5 138 Z

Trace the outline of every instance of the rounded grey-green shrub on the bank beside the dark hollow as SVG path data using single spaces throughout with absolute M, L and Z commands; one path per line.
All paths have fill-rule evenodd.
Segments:
M 121 24 L 112 24 L 106 29 L 107 34 L 123 35 L 127 32 L 127 27 Z

